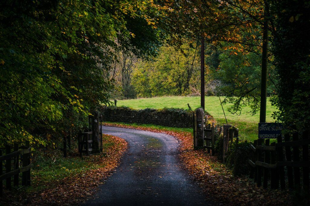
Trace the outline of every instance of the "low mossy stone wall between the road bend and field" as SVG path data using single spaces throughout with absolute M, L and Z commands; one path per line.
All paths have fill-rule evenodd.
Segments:
M 132 109 L 129 107 L 103 106 L 100 108 L 103 121 L 155 124 L 168 127 L 193 127 L 193 111 L 185 109 Z

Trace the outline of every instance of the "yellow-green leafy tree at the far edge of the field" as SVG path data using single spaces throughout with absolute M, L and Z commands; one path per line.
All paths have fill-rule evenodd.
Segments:
M 196 81 L 199 62 L 196 49 L 183 44 L 179 49 L 164 45 L 149 61 L 140 61 L 133 71 L 132 84 L 138 97 L 186 95 Z

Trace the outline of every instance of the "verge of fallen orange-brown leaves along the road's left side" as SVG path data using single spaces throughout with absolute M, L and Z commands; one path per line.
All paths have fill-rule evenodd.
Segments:
M 122 154 L 127 148 L 127 142 L 120 138 L 111 135 L 105 135 L 103 145 L 108 145 L 100 154 L 90 155 L 85 157 L 89 162 L 89 167 L 96 169 L 88 169 L 86 167 L 79 168 L 81 172 L 77 174 L 69 174 L 63 179 L 55 179 L 50 183 L 36 179 L 33 181 L 33 188 L 42 187 L 42 184 L 48 184 L 47 189 L 41 191 L 25 191 L 19 194 L 18 197 L 11 196 L 13 193 L 4 195 L 1 205 L 13 204 L 17 205 L 72 205 L 81 204 L 90 198 L 96 192 L 98 186 L 103 184 L 103 179 L 107 179 L 113 172 L 113 169 L 118 166 Z M 70 157 L 76 159 L 79 157 Z M 51 168 L 52 170 L 52 168 Z M 35 178 L 40 178 L 36 176 Z

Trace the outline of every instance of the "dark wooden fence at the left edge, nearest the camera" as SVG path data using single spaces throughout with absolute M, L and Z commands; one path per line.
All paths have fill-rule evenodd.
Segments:
M 5 149 L 5 155 L 2 155 L 2 149 Z M 3 193 L 3 181 L 6 181 L 6 188 L 11 189 L 11 180 L 13 178 L 14 186 L 19 186 L 19 174 L 22 173 L 22 185 L 30 185 L 30 155 L 31 147 L 29 141 L 26 141 L 25 146 L 19 146 L 14 143 L 14 151 L 11 151 L 11 145 L 6 145 L 5 148 L 0 148 L 0 196 Z M 5 162 L 5 170 L 3 163 Z M 20 167 L 22 165 L 22 167 Z M 12 170 L 13 166 L 13 170 Z

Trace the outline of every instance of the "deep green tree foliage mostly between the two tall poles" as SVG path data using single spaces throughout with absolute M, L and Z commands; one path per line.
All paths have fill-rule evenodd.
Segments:
M 218 56 L 218 67 L 212 68 L 213 78 L 218 80 L 217 92 L 226 98 L 223 103 L 232 103 L 228 111 L 241 114 L 243 106 L 250 107 L 254 115 L 260 107 L 261 57 L 256 52 L 243 54 L 232 49 L 221 49 Z M 219 52 L 218 52 L 219 53 Z M 277 82 L 275 68 L 268 68 L 268 96 L 273 95 Z M 272 81 L 271 81 L 271 80 Z

